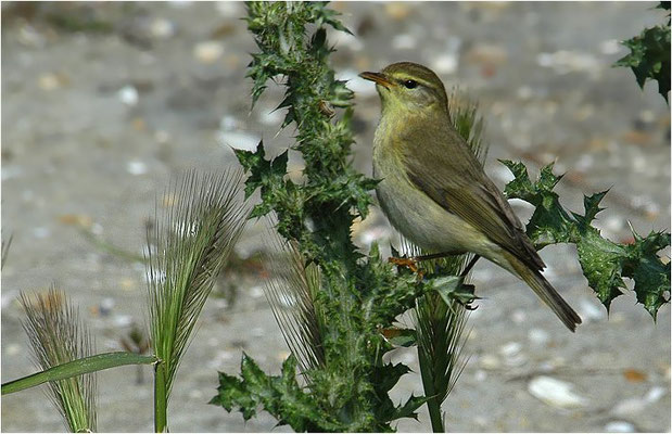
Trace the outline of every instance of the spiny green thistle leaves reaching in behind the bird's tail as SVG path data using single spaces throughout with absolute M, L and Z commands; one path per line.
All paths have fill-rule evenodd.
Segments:
M 664 294 L 670 290 L 670 266 L 664 265 L 657 253 L 670 245 L 670 234 L 651 232 L 642 238 L 635 233 L 635 242 L 630 245 L 604 239 L 591 222 L 604 209 L 599 203 L 607 191 L 584 196 L 583 215 L 568 213 L 553 191 L 561 177 L 553 175 L 550 165 L 541 170 L 536 182 L 532 182 L 522 164 L 503 163 L 515 176 L 505 189 L 508 197 L 522 199 L 536 206 L 527 227 L 536 246 L 559 242 L 575 244 L 583 275 L 607 309 L 613 298 L 623 293 L 623 278 L 631 278 L 635 281 L 637 301 L 656 318 L 660 306 L 669 302 Z

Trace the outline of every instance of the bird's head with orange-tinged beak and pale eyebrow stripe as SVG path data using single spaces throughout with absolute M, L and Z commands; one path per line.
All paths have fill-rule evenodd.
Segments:
M 385 66 L 380 73 L 362 73 L 376 82 L 383 113 L 447 112 L 447 97 L 441 79 L 430 68 L 411 62 Z

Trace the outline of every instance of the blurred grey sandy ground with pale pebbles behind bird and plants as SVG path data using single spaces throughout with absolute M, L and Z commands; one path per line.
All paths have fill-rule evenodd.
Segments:
M 655 5 L 332 3 L 354 34 L 330 31 L 330 41 L 339 77 L 356 92 L 357 168 L 371 173 L 380 111 L 373 85 L 357 73 L 414 61 L 480 102 L 486 171 L 499 187 L 510 177 L 496 158 L 523 161 L 534 176 L 555 161 L 556 173 L 567 173 L 558 192 L 570 209 L 583 209 L 582 193 L 611 188 L 596 222 L 607 238 L 631 240 L 629 221 L 641 233 L 669 230 L 669 107 L 655 84 L 642 91 L 630 69 L 611 67 L 629 52 L 620 40 L 663 21 Z M 234 2 L 2 2 L 2 239 L 13 235 L 2 270 L 3 382 L 35 371 L 20 291 L 52 283 L 66 291 L 98 352 L 142 347 L 132 339 L 145 314 L 138 257 L 155 197 L 186 169 L 236 166 L 230 146 L 252 149 L 263 138 L 275 155 L 292 143 L 292 127 L 279 131 L 282 111 L 272 112 L 281 88 L 271 84 L 251 110 L 244 76 L 256 48 L 244 15 Z M 276 424 L 264 413 L 244 423 L 205 404 L 217 370 L 239 372 L 242 350 L 267 372 L 289 354 L 262 290 L 266 227 L 249 224 L 201 316 L 174 387 L 174 432 Z M 397 242 L 378 209 L 355 237 L 363 247 Z M 568 333 L 522 283 L 480 261 L 483 299 L 468 322 L 469 361 L 444 404 L 448 430 L 670 431 L 670 307 L 654 323 L 629 292 L 607 316 L 572 246 L 542 257 L 584 324 Z M 415 350 L 391 357 L 417 371 Z M 101 431 L 153 429 L 150 369 L 99 374 Z M 417 373 L 395 399 L 411 392 L 421 393 Z M 64 430 L 37 388 L 4 397 L 1 416 L 7 432 Z M 419 422 L 398 429 L 429 431 L 424 408 Z

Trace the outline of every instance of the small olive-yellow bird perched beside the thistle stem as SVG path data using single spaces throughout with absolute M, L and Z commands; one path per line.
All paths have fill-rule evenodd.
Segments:
M 495 263 L 574 331 L 581 318 L 542 276 L 546 266 L 522 224 L 453 128 L 436 74 L 400 62 L 359 76 L 376 82 L 382 103 L 373 177 L 382 179 L 376 193 L 392 226 L 427 252 L 470 252 Z

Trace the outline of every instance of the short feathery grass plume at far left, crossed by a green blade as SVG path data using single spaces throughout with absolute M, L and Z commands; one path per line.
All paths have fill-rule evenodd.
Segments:
M 94 353 L 93 340 L 79 321 L 65 294 L 49 292 L 20 296 L 26 312 L 23 328 L 33 347 L 35 365 L 47 370 Z M 96 431 L 96 375 L 93 373 L 49 383 L 48 396 L 72 432 Z

